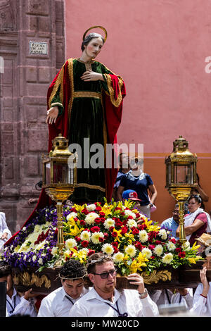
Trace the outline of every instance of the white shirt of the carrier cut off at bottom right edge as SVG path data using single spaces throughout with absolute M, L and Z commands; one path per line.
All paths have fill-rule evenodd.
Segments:
M 211 317 L 211 282 L 209 282 L 210 289 L 207 298 L 201 296 L 203 292 L 202 283 L 198 284 L 196 291 L 193 295 L 193 308 L 191 308 L 191 315 L 193 316 L 207 316 Z

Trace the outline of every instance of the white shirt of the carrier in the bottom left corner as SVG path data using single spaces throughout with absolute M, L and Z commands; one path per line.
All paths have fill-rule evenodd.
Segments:
M 16 314 L 36 317 L 37 310 L 34 306 L 34 299 L 24 299 L 24 297 L 20 296 L 14 288 L 11 297 L 6 294 L 6 315 L 11 316 Z

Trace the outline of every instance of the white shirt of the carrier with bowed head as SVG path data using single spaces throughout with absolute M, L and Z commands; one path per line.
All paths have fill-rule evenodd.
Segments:
M 88 291 L 89 289 L 84 288 L 82 294 L 79 297 L 82 297 Z M 70 308 L 72 308 L 72 303 L 75 304 L 78 299 L 73 299 L 65 292 L 65 289 L 63 287 L 59 287 L 41 300 L 41 305 L 39 307 L 39 312 L 37 316 L 68 317 Z

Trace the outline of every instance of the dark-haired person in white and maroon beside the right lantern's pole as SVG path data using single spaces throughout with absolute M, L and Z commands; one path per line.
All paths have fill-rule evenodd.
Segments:
M 202 199 L 198 194 L 191 194 L 188 197 L 188 211 L 190 212 L 185 216 L 184 230 L 186 239 L 192 246 L 203 233 L 210 232 L 210 216 L 200 208 Z M 180 227 L 180 225 L 179 225 Z M 179 227 L 177 228 L 176 235 L 179 237 Z

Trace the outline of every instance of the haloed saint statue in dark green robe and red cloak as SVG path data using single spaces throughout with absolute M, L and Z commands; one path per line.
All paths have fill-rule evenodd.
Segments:
M 111 160 L 106 161 L 106 144 L 117 142 L 125 87 L 122 77 L 95 61 L 107 37 L 106 30 L 101 28 L 105 37 L 98 33 L 84 36 L 82 55 L 65 62 L 48 91 L 49 150 L 51 140 L 59 133 L 69 139 L 72 151 L 77 151 L 77 146 L 80 148 L 77 151 L 80 187 L 70 196 L 70 200 L 76 203 L 103 201 L 103 196 L 110 200 L 117 175 L 117 168 L 111 165 Z M 96 147 L 91 150 L 91 146 Z M 102 153 L 99 146 L 103 147 Z M 97 164 L 91 166 L 96 151 Z

